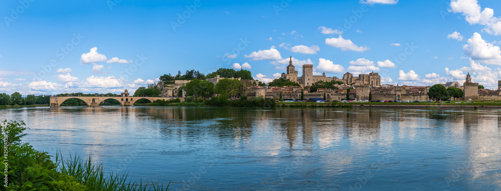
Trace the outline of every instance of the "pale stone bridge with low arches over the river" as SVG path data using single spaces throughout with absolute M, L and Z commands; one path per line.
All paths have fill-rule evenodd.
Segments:
M 80 100 L 83 100 L 85 103 L 87 103 L 88 106 L 98 106 L 101 102 L 107 99 L 114 99 L 120 102 L 120 105 L 122 106 L 131 106 L 134 104 L 136 101 L 141 100 L 141 99 L 146 99 L 149 100 L 150 102 L 156 101 L 156 100 L 170 100 L 170 99 L 176 99 L 177 97 L 99 97 L 99 96 L 90 96 L 90 97 L 81 97 L 81 96 L 69 96 L 69 97 L 51 97 L 50 100 L 50 106 L 51 107 L 59 107 L 61 103 L 64 101 L 71 99 L 71 98 L 77 98 Z M 183 100 L 183 98 L 180 98 Z

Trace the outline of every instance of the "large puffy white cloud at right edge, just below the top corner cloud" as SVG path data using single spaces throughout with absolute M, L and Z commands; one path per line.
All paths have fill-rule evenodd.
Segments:
M 485 42 L 478 33 L 468 39 L 467 44 L 463 46 L 463 52 L 477 62 L 501 65 L 499 47 Z

